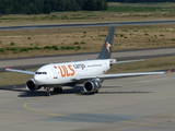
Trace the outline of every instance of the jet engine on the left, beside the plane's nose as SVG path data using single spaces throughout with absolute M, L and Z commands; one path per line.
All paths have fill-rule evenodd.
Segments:
M 42 87 L 40 85 L 37 85 L 33 79 L 28 80 L 25 86 L 28 91 L 37 91 Z

